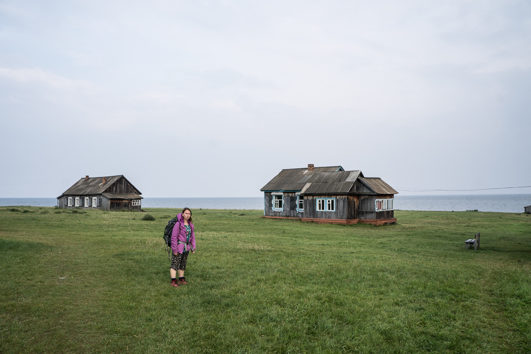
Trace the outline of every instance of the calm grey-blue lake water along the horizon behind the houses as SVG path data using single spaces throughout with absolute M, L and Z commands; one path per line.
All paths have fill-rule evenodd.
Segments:
M 431 211 L 524 212 L 530 194 L 396 195 L 395 208 Z M 56 198 L 0 198 L 0 206 L 56 206 Z M 242 198 L 144 198 L 143 208 L 263 209 L 263 197 Z

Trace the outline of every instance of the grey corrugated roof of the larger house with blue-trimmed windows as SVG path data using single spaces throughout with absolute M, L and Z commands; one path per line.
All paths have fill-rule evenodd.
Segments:
M 375 194 L 397 194 L 380 178 L 365 178 L 362 171 L 345 171 L 341 166 L 284 169 L 260 191 L 301 192 L 301 194 L 357 194 L 354 184 L 359 179 Z

